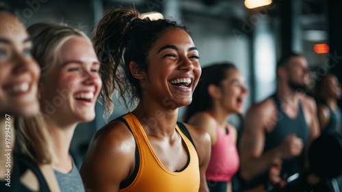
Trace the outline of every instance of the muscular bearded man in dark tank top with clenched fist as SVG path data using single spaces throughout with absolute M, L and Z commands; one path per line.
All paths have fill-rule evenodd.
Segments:
M 295 184 L 307 167 L 306 151 L 319 135 L 315 101 L 305 95 L 306 59 L 295 53 L 277 64 L 276 93 L 247 112 L 240 142 L 241 176 L 246 189 L 286 187 Z M 289 189 L 291 187 L 291 189 Z

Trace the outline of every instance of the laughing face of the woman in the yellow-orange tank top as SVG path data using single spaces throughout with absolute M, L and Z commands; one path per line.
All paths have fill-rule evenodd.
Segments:
M 182 29 L 168 29 L 156 40 L 147 60 L 143 94 L 165 108 L 190 104 L 201 69 L 198 50 L 189 34 Z

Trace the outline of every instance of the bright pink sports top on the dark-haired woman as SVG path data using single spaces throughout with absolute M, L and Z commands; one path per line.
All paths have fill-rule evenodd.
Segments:
M 214 119 L 215 116 L 208 112 Z M 217 122 L 218 123 L 218 122 Z M 233 134 L 226 127 L 228 134 L 222 132 L 218 123 L 218 141 L 211 146 L 211 158 L 205 176 L 207 180 L 229 182 L 239 169 L 239 154 Z

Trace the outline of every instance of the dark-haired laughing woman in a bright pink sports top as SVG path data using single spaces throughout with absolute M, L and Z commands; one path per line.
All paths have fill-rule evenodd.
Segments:
M 237 131 L 228 124 L 231 114 L 243 112 L 248 91 L 234 64 L 212 64 L 202 69 L 185 121 L 211 136 L 211 159 L 206 171 L 210 191 L 232 191 L 231 178 L 239 169 Z

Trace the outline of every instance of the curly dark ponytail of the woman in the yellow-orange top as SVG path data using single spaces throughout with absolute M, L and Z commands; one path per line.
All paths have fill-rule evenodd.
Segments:
M 103 82 L 101 96 L 105 104 L 105 116 L 109 116 L 114 109 L 111 100 L 114 89 L 118 89 L 120 95 L 124 93 L 123 71 L 118 70 L 124 64 L 123 39 L 131 21 L 139 16 L 140 13 L 132 8 L 114 8 L 105 13 L 92 33 L 94 49 L 101 62 L 100 75 Z M 127 106 L 126 101 L 125 106 Z

